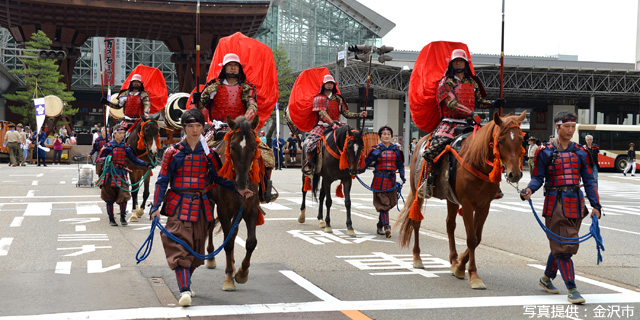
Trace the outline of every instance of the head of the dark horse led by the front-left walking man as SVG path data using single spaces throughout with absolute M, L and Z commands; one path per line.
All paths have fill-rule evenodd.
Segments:
M 259 120 L 258 117 L 255 117 L 253 121 L 249 121 L 244 116 L 239 116 L 232 120 L 227 116 L 227 124 L 231 129 L 229 139 L 231 159 L 225 159 L 225 161 L 233 161 L 238 190 L 245 190 L 249 185 L 249 171 L 253 167 L 256 149 L 258 148 L 255 130 L 258 127 Z

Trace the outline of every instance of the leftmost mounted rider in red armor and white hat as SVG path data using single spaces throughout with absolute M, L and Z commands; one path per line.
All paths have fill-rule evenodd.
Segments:
M 129 88 L 121 90 L 117 95 L 118 103 L 112 103 L 106 98 L 102 97 L 100 102 L 102 104 L 109 105 L 114 109 L 124 109 L 124 119 L 120 123 L 123 127 L 130 132 L 135 127 L 136 123 L 140 119 L 147 119 L 149 117 L 149 110 L 151 110 L 151 99 L 149 93 L 144 90 L 144 84 L 142 83 L 142 76 L 134 74 L 131 77 Z

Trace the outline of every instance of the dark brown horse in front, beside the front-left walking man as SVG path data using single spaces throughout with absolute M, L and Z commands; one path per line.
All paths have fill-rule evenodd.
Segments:
M 236 286 L 234 283 L 246 283 L 249 279 L 249 266 L 251 265 L 251 255 L 258 244 L 256 237 L 256 226 L 260 224 L 260 212 L 258 210 L 258 184 L 260 183 L 260 174 L 264 174 L 260 165 L 260 150 L 258 150 L 257 133 L 259 118 L 255 117 L 253 121 L 247 120 L 244 116 L 239 116 L 235 120 L 227 117 L 227 124 L 230 131 L 217 146 L 216 152 L 223 161 L 223 166 L 219 171 L 220 176 L 229 176 L 236 182 L 238 190 L 249 188 L 253 191 L 254 196 L 250 198 L 242 198 L 236 192 L 216 187 L 213 190 L 213 202 L 217 205 L 218 218 L 209 227 L 209 239 L 207 243 L 207 253 L 213 252 L 213 230 L 216 223 L 220 223 L 225 239 L 232 232 L 232 225 L 240 214 L 242 208 L 241 219 L 244 220 L 247 228 L 246 254 L 242 260 L 240 269 L 235 271 L 234 243 L 237 233 L 229 237 L 224 247 L 226 255 L 225 279 L 222 285 L 224 291 L 234 291 Z M 230 157 L 230 159 L 229 159 Z M 227 167 L 230 167 L 227 168 Z M 225 172 L 230 173 L 225 174 Z M 256 172 L 257 170 L 257 172 Z M 207 268 L 215 268 L 215 260 L 207 260 Z M 235 273 L 235 277 L 233 274 Z

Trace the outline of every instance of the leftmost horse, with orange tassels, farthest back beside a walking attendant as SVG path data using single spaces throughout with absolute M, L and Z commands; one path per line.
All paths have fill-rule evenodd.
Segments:
M 141 131 L 142 128 L 142 132 Z M 159 142 L 158 123 L 153 120 L 139 121 L 131 134 L 127 138 L 127 144 L 133 150 L 133 153 L 139 159 L 155 164 L 158 154 L 158 142 Z M 127 160 L 127 168 L 131 170 L 129 172 L 129 179 L 131 183 L 135 184 L 142 180 L 145 173 L 149 170 L 147 167 L 139 167 Z M 142 192 L 142 205 L 138 208 L 138 191 L 140 185 L 132 186 L 131 189 L 135 190 L 131 192 L 132 214 L 130 221 L 138 221 L 138 218 L 144 214 L 144 206 L 149 198 L 149 180 L 151 174 L 148 174 L 144 179 L 144 191 Z

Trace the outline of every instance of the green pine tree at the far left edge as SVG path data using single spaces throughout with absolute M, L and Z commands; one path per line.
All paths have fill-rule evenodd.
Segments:
M 25 43 L 26 49 L 49 50 L 51 39 L 39 30 L 31 36 L 31 41 Z M 62 75 L 58 72 L 58 66 L 53 59 L 40 59 L 37 52 L 24 51 L 25 56 L 33 58 L 23 58 L 23 69 L 11 70 L 11 73 L 24 79 L 26 83 L 25 91 L 17 91 L 15 94 L 7 94 L 7 100 L 17 102 L 17 105 L 9 106 L 11 112 L 23 116 L 22 121 L 31 123 L 35 130 L 35 109 L 33 99 L 42 98 L 47 95 L 58 96 L 64 103 L 63 116 L 72 116 L 78 112 L 77 108 L 72 108 L 69 102 L 75 101 L 73 92 L 65 91 L 66 85 L 60 82 Z M 37 88 L 37 90 L 36 90 Z

